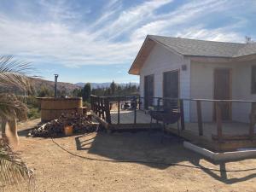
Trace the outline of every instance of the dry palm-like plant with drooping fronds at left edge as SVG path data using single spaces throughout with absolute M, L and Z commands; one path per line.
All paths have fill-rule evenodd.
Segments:
M 20 90 L 31 90 L 27 73 L 30 65 L 17 61 L 12 55 L 0 56 L 0 86 L 8 90 L 17 87 Z M 2 121 L 2 138 L 0 139 L 0 185 L 20 184 L 24 179 L 31 179 L 32 172 L 12 151 L 5 136 L 5 123 L 11 125 L 16 119 L 26 119 L 26 105 L 14 94 L 0 93 L 0 119 Z M 12 126 L 9 126 L 13 129 Z

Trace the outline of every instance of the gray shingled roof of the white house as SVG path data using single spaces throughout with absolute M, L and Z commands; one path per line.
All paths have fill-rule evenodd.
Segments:
M 237 44 L 154 35 L 149 35 L 148 38 L 174 49 L 181 55 L 237 57 L 256 54 L 256 43 Z

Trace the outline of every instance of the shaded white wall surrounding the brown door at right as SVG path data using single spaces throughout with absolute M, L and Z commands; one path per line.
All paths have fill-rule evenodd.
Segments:
M 255 100 L 256 95 L 251 94 L 251 67 L 256 62 L 243 63 L 202 63 L 191 62 L 191 98 L 213 99 L 213 73 L 216 67 L 231 68 L 232 99 Z M 203 121 L 212 121 L 212 102 L 202 102 Z M 251 110 L 250 103 L 232 103 L 232 119 L 248 122 Z M 195 102 L 190 102 L 190 120 L 196 121 Z

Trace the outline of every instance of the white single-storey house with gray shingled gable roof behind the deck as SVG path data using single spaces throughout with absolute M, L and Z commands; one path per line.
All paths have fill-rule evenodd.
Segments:
M 130 74 L 140 76 L 140 96 L 256 101 L 256 44 L 236 44 L 148 35 Z M 251 103 L 232 102 L 224 120 L 248 122 Z M 214 119 L 213 102 L 201 105 L 204 121 Z M 185 121 L 196 117 L 195 102 L 184 102 Z

